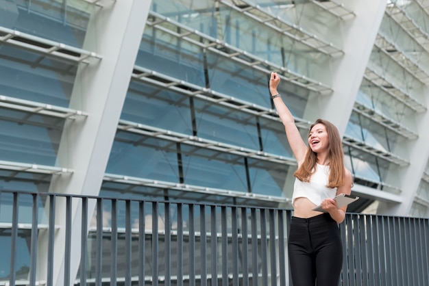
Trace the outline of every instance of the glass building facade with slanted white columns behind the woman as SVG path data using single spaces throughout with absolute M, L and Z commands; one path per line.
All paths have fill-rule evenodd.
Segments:
M 428 23 L 424 0 L 0 0 L 0 191 L 291 208 L 276 71 L 304 137 L 339 127 L 349 211 L 426 218 Z

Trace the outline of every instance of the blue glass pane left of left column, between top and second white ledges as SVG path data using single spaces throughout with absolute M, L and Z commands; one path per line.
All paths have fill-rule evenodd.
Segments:
M 0 47 L 2 95 L 69 107 L 77 66 L 36 53 Z

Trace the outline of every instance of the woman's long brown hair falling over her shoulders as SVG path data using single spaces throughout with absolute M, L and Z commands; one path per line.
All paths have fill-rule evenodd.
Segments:
M 341 187 L 344 185 L 345 167 L 344 167 L 344 153 L 343 144 L 341 143 L 341 137 L 338 129 L 331 122 L 323 119 L 317 119 L 310 127 L 308 135 L 312 127 L 317 124 L 323 124 L 328 133 L 328 159 L 330 166 L 330 174 L 328 179 L 328 185 L 326 187 Z M 306 157 L 299 166 L 298 170 L 293 174 L 299 181 L 309 182 L 311 175 L 315 172 L 315 166 L 317 164 L 317 153 L 313 152 L 308 146 Z

